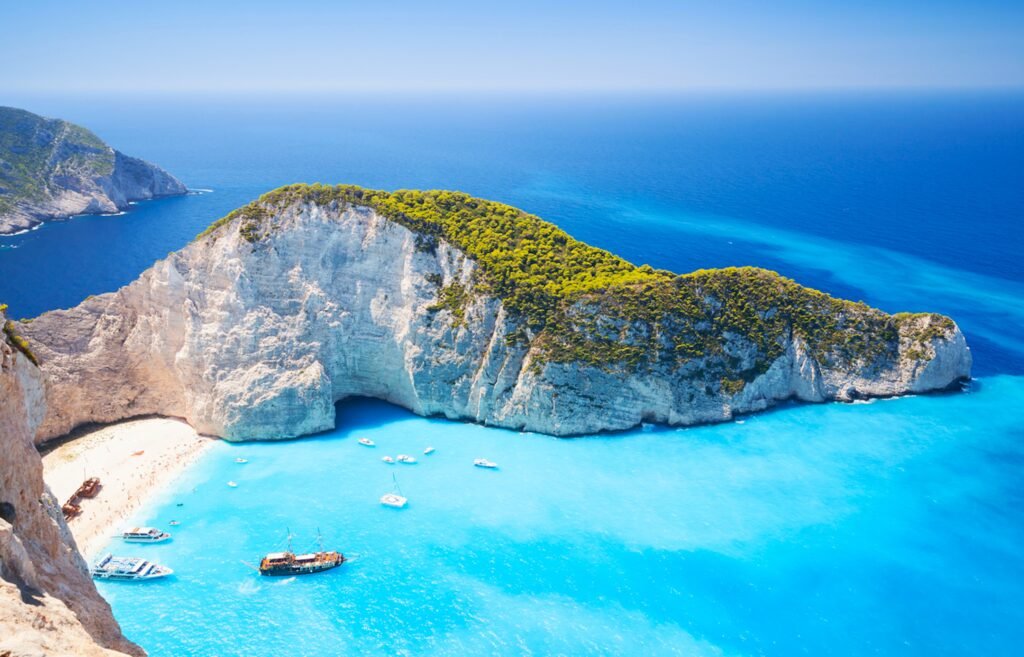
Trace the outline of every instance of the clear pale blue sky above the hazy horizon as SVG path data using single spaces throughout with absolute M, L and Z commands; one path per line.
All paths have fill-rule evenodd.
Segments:
M 0 91 L 1024 86 L 1024 0 L 24 0 Z

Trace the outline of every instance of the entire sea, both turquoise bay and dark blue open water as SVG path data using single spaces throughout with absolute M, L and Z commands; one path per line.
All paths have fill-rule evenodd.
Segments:
M 210 190 L 0 237 L 14 316 L 117 289 L 274 186 L 350 182 L 507 202 L 636 263 L 944 312 L 974 352 L 967 393 L 714 427 L 557 440 L 350 400 L 334 432 L 219 444 L 137 518 L 181 521 L 134 550 L 177 574 L 100 585 L 152 655 L 1020 654 L 1024 96 L 0 103 Z M 403 511 L 377 503 L 392 473 Z M 286 528 L 355 559 L 260 578 L 246 563 Z

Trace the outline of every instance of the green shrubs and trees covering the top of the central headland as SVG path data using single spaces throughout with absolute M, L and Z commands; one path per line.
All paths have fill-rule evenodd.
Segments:
M 870 367 L 897 355 L 898 316 L 765 269 L 680 275 L 638 267 L 534 215 L 461 192 L 289 185 L 236 210 L 200 237 L 238 220 L 241 235 L 257 244 L 274 231 L 278 212 L 296 203 L 372 208 L 414 231 L 420 250 L 432 251 L 439 239 L 457 247 L 479 265 L 473 290 L 501 299 L 521 318 L 523 331 L 515 338 L 531 339 L 548 361 L 689 365 L 736 393 L 782 354 L 791 333 L 831 366 Z M 469 294 L 462 286 L 441 288 L 432 309 L 447 308 L 461 323 Z M 926 322 L 932 328 L 920 332 L 922 341 L 952 327 L 935 317 Z

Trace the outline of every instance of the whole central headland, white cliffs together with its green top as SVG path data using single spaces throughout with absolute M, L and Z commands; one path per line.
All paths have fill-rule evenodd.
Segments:
M 150 413 L 289 438 L 334 427 L 352 395 L 570 436 L 944 390 L 971 370 L 941 315 L 762 269 L 636 267 L 502 204 L 353 186 L 264 194 L 19 330 L 48 375 L 37 440 Z

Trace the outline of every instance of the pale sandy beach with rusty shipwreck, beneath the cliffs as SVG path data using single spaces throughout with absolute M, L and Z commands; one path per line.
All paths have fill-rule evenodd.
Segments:
M 82 514 L 68 523 L 90 560 L 129 516 L 216 442 L 180 420 L 132 420 L 86 433 L 46 454 L 44 477 L 60 503 L 88 477 L 99 478 L 99 494 L 83 499 Z

